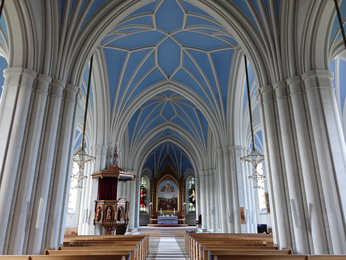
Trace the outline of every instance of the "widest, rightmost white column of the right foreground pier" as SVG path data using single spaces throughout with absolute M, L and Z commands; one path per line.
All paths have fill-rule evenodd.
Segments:
M 325 207 L 328 248 L 332 254 L 346 253 L 346 148 L 337 112 L 333 72 L 303 73 L 307 105 L 312 124 L 313 147 L 320 178 L 320 196 Z

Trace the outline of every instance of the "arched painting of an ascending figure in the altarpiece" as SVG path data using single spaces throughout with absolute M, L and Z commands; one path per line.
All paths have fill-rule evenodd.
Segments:
M 157 211 L 178 211 L 178 190 L 172 180 L 164 180 L 158 184 L 157 189 Z

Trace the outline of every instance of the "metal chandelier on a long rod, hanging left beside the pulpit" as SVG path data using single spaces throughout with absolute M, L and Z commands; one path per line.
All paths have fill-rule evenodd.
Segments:
M 78 150 L 77 153 L 75 153 L 73 155 L 73 162 L 78 164 L 79 171 L 78 171 L 78 173 L 71 175 L 71 179 L 72 178 L 76 179 L 77 180 L 77 184 L 74 187 L 72 187 L 72 188 L 81 188 L 81 189 L 83 188 L 81 184 L 82 184 L 83 180 L 86 179 L 88 176 L 85 176 L 81 172 L 82 166 L 86 162 L 95 162 L 96 161 L 96 158 L 94 156 L 86 154 L 85 149 L 84 149 L 85 125 L 86 125 L 86 115 L 88 114 L 90 81 L 91 81 L 91 70 L 92 70 L 92 59 L 93 59 L 93 57 L 94 57 L 94 54 L 91 55 L 91 59 L 90 59 L 88 89 L 86 90 L 86 101 L 85 101 L 85 112 L 84 112 L 84 123 L 83 123 L 81 148 Z

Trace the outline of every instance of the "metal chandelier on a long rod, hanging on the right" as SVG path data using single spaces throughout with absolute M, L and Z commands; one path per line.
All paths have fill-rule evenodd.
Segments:
M 250 88 L 249 88 L 249 75 L 247 72 L 247 60 L 246 60 L 245 54 L 244 54 L 244 61 L 245 61 L 245 73 L 246 73 L 247 99 L 249 104 L 250 125 L 251 125 L 252 150 L 249 155 L 240 158 L 240 161 L 244 163 L 247 162 L 247 163 L 253 164 L 253 166 L 255 167 L 255 172 L 251 176 L 249 176 L 249 179 L 253 179 L 256 181 L 256 185 L 254 186 L 254 189 L 256 188 L 263 189 L 262 186 L 258 185 L 258 181 L 260 181 L 261 179 L 265 179 L 265 176 L 257 172 L 257 166 L 258 164 L 260 164 L 260 162 L 264 160 L 264 155 L 258 153 L 255 148 L 254 127 L 252 122 L 251 99 L 250 99 Z

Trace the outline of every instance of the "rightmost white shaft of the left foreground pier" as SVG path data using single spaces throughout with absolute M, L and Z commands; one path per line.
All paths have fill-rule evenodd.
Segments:
M 75 85 L 66 85 L 64 106 L 61 118 L 61 128 L 56 151 L 56 164 L 53 170 L 53 183 L 50 204 L 48 205 L 47 240 L 45 246 L 56 249 L 62 243 L 62 232 L 65 223 L 62 223 L 66 214 L 64 198 L 69 182 L 69 169 L 72 163 L 72 133 L 76 112 L 79 88 Z

